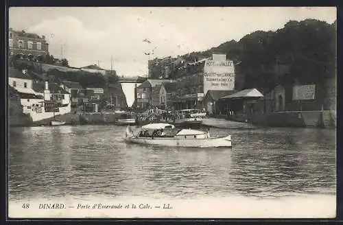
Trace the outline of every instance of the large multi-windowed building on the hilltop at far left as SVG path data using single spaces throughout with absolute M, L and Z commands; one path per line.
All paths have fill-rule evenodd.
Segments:
M 8 54 L 19 56 L 29 60 L 38 60 L 40 56 L 49 55 L 49 43 L 45 36 L 15 31 L 10 28 L 8 31 Z

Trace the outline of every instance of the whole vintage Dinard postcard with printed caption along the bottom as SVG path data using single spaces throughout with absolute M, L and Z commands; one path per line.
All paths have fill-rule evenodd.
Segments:
M 333 218 L 335 7 L 12 7 L 8 218 Z

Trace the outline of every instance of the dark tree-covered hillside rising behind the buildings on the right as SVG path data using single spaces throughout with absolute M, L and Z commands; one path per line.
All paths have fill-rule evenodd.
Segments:
M 292 82 L 322 84 L 335 76 L 336 21 L 289 21 L 275 32 L 257 31 L 206 51 L 182 56 L 192 62 L 213 52 L 235 62 L 241 88 L 272 88 Z

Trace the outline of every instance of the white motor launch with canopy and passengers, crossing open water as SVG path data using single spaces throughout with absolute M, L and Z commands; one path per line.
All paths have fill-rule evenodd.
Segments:
M 231 147 L 231 136 L 210 137 L 209 132 L 175 128 L 169 123 L 150 123 L 136 132 L 126 128 L 129 143 L 164 145 L 171 147 Z

